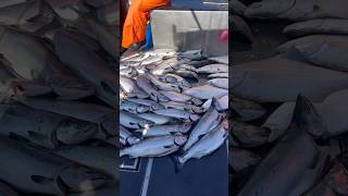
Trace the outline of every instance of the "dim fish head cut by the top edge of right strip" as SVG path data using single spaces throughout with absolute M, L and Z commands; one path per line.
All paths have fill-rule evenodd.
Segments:
M 264 0 L 250 4 L 244 12 L 247 17 L 271 19 L 290 10 L 296 0 Z

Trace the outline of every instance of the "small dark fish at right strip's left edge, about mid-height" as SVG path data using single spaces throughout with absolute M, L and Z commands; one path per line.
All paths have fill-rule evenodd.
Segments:
M 260 119 L 266 112 L 266 110 L 259 103 L 233 97 L 231 101 L 232 109 L 238 113 L 239 120 L 252 121 Z

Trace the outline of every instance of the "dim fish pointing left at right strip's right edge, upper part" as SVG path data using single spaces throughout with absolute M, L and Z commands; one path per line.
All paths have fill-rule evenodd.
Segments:
M 290 40 L 278 47 L 279 52 L 299 52 L 307 61 L 319 66 L 337 71 L 348 71 L 348 38 L 335 35 L 312 35 Z

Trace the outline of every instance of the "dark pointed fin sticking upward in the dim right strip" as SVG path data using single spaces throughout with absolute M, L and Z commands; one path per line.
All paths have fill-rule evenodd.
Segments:
M 293 123 L 296 123 L 299 128 L 315 137 L 325 137 L 327 133 L 326 125 L 311 101 L 301 94 L 298 95 L 296 100 Z

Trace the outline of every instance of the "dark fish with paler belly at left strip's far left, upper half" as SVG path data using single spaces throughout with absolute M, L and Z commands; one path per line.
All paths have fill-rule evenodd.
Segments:
M 3 25 L 0 33 L 0 53 L 21 77 L 45 83 L 61 99 L 78 99 L 94 93 L 38 37 Z

